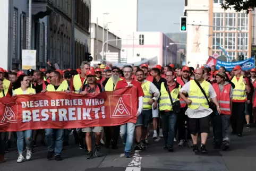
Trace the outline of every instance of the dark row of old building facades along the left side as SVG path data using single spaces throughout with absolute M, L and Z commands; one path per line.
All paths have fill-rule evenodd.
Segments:
M 7 52 L 4 50 L 7 58 L 4 68 L 21 68 L 22 49 L 29 48 L 28 1 L 3 1 L 1 8 L 4 8 L 2 14 L 5 14 L 2 20 L 7 22 L 2 31 L 8 35 L 5 40 L 8 47 Z M 71 0 L 33 0 L 31 49 L 37 50 L 37 69 L 47 67 L 48 61 L 57 63 L 61 69 L 72 67 L 73 62 L 78 67 L 83 61 L 84 52 L 89 50 L 89 23 L 89 0 L 76 0 L 75 4 Z

